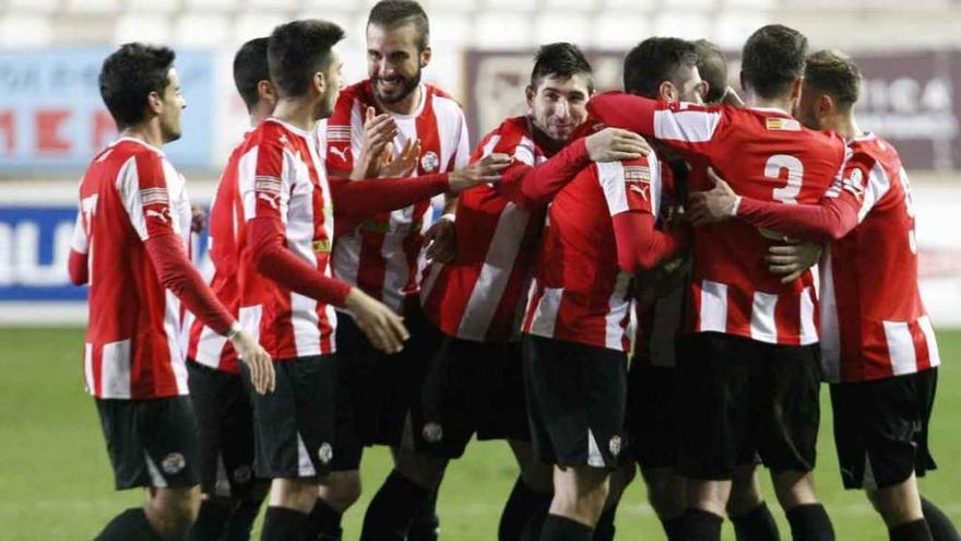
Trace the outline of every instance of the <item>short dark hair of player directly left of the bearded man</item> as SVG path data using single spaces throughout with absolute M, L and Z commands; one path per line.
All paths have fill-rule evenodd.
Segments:
M 270 77 L 284 97 L 301 96 L 310 78 L 330 67 L 331 48 L 344 38 L 344 31 L 319 19 L 292 21 L 274 28 L 268 43 Z

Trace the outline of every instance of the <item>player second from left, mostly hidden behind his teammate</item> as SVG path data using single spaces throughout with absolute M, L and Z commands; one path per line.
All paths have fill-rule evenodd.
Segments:
M 268 38 L 258 37 L 245 43 L 234 56 L 234 84 L 247 106 L 251 127 L 271 115 L 277 99 L 270 82 L 266 48 Z M 230 155 L 217 184 L 207 243 L 215 269 L 211 290 L 234 317 L 239 309 L 233 208 L 241 157 L 238 151 Z M 240 378 L 237 354 L 229 342 L 197 320 L 190 328 L 187 361 L 190 395 L 200 425 L 203 491 L 188 540 L 220 540 L 226 531 L 239 536 L 227 537 L 227 541 L 249 539 L 268 486 L 253 475 L 253 410 Z

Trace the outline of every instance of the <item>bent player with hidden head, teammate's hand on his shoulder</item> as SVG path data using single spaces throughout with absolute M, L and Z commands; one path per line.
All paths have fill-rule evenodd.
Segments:
M 534 452 L 554 466 L 543 540 L 592 539 L 618 466 L 632 278 L 683 245 L 678 232 L 654 227 L 661 190 L 653 153 L 603 162 L 579 172 L 547 212 L 522 342 Z

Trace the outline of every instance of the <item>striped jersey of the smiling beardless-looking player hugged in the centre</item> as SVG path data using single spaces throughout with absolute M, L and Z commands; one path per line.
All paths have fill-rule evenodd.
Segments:
M 509 154 L 532 167 L 547 160 L 526 117 L 510 118 L 488 133 L 471 161 L 491 153 Z M 435 261 L 425 270 L 420 299 L 427 317 L 446 334 L 464 340 L 518 337 L 545 214 L 545 209 L 521 208 L 487 185 L 461 193 L 456 254 L 452 261 Z

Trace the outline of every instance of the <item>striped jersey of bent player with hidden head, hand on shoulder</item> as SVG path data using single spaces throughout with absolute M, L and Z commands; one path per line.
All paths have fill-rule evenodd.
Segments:
M 630 351 L 632 275 L 618 267 L 612 216 L 656 216 L 661 167 L 652 154 L 584 168 L 547 212 L 523 331 L 567 342 Z

